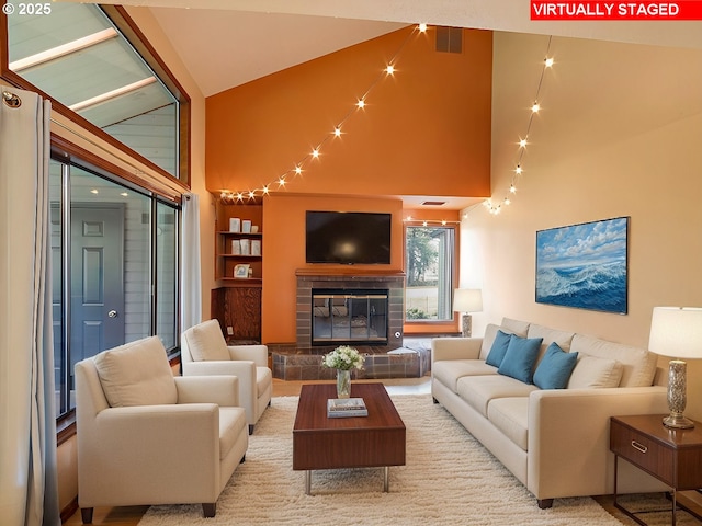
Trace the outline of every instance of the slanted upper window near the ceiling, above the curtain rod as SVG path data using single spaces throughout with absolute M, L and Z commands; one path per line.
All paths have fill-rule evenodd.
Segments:
M 8 16 L 9 77 L 60 103 L 55 111 L 78 115 L 129 155 L 188 182 L 188 96 L 124 11 L 83 3 L 47 8 L 49 13 Z

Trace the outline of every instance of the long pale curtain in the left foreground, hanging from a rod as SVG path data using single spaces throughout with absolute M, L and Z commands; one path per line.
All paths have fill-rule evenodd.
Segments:
M 0 522 L 57 526 L 50 104 L 0 89 Z

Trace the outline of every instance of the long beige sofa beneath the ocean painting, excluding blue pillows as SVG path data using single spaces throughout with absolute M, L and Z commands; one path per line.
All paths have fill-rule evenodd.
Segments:
M 496 339 L 503 342 L 510 334 L 542 339 L 532 373 L 554 342 L 566 353 L 577 352 L 565 388 L 541 389 L 500 374 L 503 365 L 488 365 Z M 488 325 L 484 338 L 432 340 L 431 359 L 434 402 L 495 455 L 540 507 L 551 507 L 554 498 L 613 492 L 610 416 L 668 413 L 665 373 L 654 353 L 585 334 L 506 318 L 499 327 Z M 619 462 L 618 477 L 621 493 L 666 490 L 627 462 Z

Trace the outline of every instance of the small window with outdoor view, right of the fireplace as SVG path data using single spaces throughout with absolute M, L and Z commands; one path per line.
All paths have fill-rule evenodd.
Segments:
M 451 321 L 455 229 L 406 227 L 406 321 Z

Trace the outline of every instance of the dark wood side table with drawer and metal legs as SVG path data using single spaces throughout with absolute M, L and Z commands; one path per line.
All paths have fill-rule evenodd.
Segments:
M 702 423 L 692 430 L 671 430 L 663 425 L 665 414 L 612 416 L 610 450 L 614 454 L 614 506 L 638 524 L 646 523 L 616 502 L 619 458 L 669 485 L 672 490 L 671 524 L 678 507 L 698 519 L 702 517 L 677 503 L 677 491 L 702 488 Z

